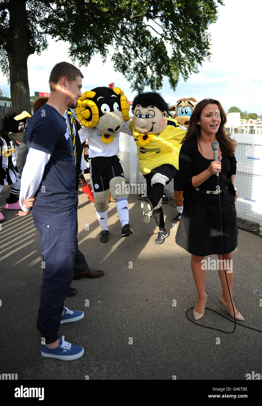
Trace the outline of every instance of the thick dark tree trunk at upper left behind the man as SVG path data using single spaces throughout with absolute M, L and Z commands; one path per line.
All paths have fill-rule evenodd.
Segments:
M 12 106 L 31 114 L 27 59 L 34 50 L 27 38 L 29 30 L 26 28 L 26 0 L 10 0 L 9 10 L 6 51 L 9 59 Z

